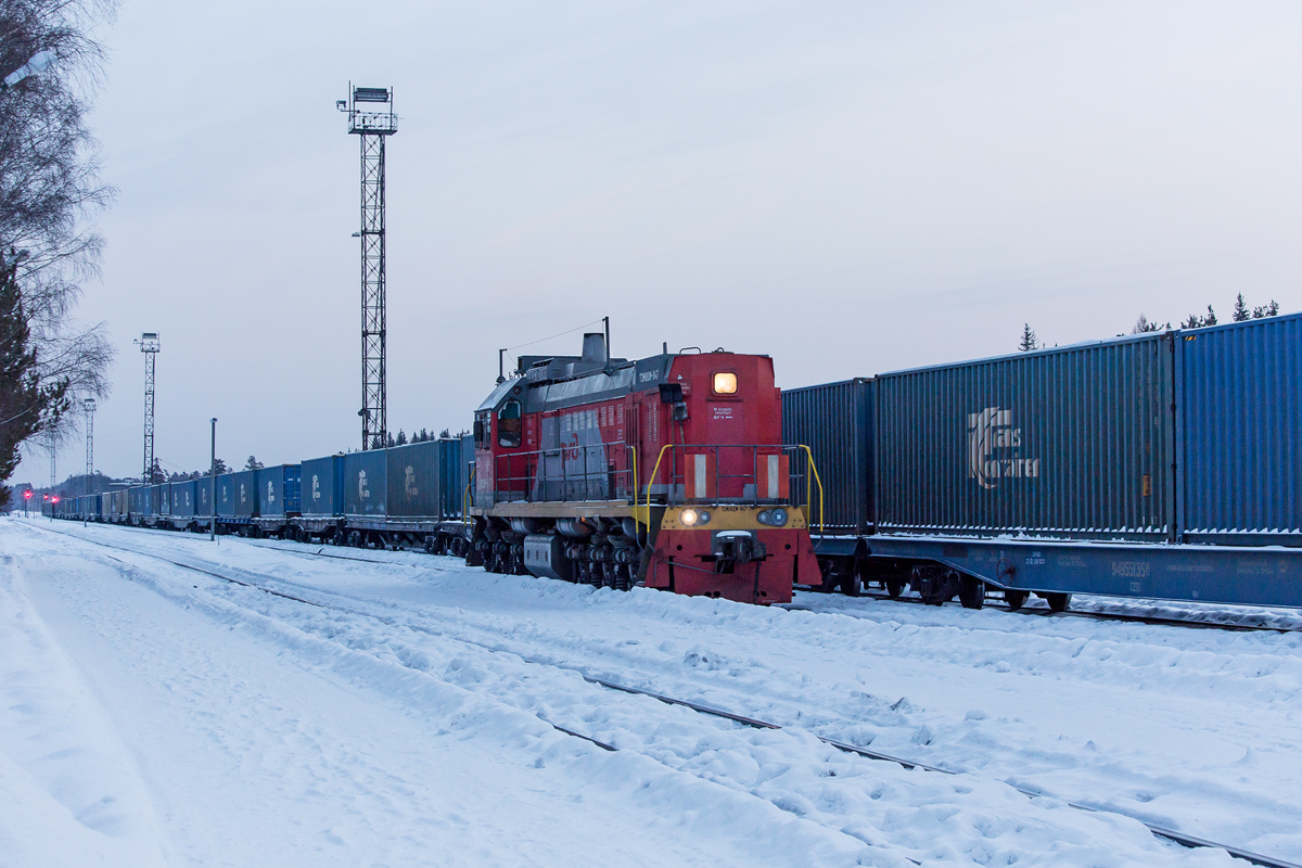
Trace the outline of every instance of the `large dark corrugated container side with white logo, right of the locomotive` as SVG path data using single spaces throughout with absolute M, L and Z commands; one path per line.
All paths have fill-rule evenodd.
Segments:
M 876 379 L 878 532 L 1167 540 L 1173 337 Z

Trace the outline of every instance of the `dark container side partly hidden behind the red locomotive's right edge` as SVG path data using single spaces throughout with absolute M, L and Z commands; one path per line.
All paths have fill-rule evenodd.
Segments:
M 783 442 L 803 444 L 823 483 L 827 534 L 872 532 L 872 380 L 854 379 L 783 390 Z M 792 455 L 792 502 L 810 502 L 820 524 L 818 485 L 807 457 Z

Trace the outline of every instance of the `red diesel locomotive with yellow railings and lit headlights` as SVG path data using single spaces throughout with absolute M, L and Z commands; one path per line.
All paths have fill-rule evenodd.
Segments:
M 469 560 L 741 603 L 819 584 L 767 355 L 521 357 L 475 411 Z M 794 465 L 793 465 L 794 462 Z M 797 481 L 803 475 L 796 474 Z

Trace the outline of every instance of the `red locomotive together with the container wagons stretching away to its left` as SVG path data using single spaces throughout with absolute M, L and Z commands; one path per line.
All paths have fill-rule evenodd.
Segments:
M 491 573 L 788 603 L 819 584 L 766 355 L 521 357 L 473 435 L 69 498 L 60 517 L 422 547 Z M 793 462 L 794 458 L 794 462 Z M 794 468 L 793 468 L 794 463 Z

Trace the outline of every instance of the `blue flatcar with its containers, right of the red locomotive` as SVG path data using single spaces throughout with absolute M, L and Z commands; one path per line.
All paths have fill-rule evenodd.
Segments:
M 1302 605 L 1299 328 L 1281 316 L 785 392 L 788 437 L 832 446 L 824 573 L 974 608 L 987 592 L 1013 608 L 1031 592 L 1055 609 L 1073 592 Z M 870 436 L 848 433 L 868 419 Z

